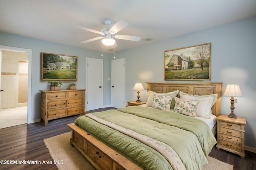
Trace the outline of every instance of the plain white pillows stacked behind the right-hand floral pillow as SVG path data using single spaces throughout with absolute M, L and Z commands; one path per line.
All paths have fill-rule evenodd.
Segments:
M 198 106 L 196 108 L 196 115 L 200 117 L 207 117 L 212 114 L 212 106 L 216 103 L 218 98 L 217 94 L 209 95 L 191 95 L 180 92 L 180 99 L 182 100 L 198 100 Z

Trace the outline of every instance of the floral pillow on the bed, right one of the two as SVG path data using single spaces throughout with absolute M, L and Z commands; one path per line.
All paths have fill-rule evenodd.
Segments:
M 184 115 L 188 115 L 191 117 L 196 117 L 196 107 L 198 104 L 198 100 L 182 100 L 177 97 L 174 98 L 175 106 L 174 111 L 178 113 L 182 113 Z

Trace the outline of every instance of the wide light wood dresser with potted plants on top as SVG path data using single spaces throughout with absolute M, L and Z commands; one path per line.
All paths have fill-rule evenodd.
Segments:
M 80 90 L 40 90 L 41 118 L 44 125 L 49 120 L 71 115 L 84 115 L 84 91 Z

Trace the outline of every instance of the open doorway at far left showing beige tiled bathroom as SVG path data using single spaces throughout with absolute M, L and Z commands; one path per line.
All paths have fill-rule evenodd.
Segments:
M 1 90 L 4 90 L 0 94 L 0 128 L 30 123 L 30 113 L 28 113 L 29 52 L 23 49 L 17 50 L 15 47 L 0 48 L 0 50 Z

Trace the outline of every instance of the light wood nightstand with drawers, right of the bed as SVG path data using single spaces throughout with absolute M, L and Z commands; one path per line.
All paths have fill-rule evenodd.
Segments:
M 224 149 L 238 154 L 244 158 L 244 125 L 246 118 L 237 117 L 236 119 L 228 115 L 220 115 L 218 121 L 217 149 Z

